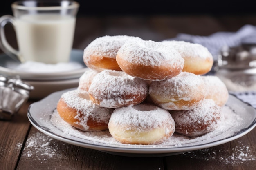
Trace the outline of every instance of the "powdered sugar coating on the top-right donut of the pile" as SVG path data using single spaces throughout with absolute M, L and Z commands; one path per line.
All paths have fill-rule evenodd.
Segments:
M 200 57 L 202 59 L 213 58 L 208 49 L 201 44 L 176 40 L 165 40 L 161 43 L 176 49 L 182 57 Z

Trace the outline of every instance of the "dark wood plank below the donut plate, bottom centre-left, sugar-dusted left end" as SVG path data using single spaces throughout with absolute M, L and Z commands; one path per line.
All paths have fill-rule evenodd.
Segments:
M 32 127 L 17 170 L 149 170 L 164 169 L 163 159 L 125 157 L 53 139 Z

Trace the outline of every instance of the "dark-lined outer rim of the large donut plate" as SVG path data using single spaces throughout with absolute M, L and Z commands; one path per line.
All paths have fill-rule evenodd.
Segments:
M 63 93 L 65 91 L 69 91 L 69 90 L 72 90 L 72 89 L 75 89 L 75 88 L 71 88 L 71 89 L 66 89 L 66 90 L 63 90 L 63 91 L 57 91 L 57 92 L 54 92 L 52 93 L 51 95 L 48 95 L 47 97 L 45 97 L 44 99 L 42 100 L 47 100 L 48 97 L 51 97 L 52 95 L 56 95 L 56 93 Z M 232 95 L 232 94 L 229 94 L 230 96 L 233 96 L 234 98 L 240 100 L 241 102 L 243 102 L 241 99 L 239 99 L 238 97 L 236 97 L 235 95 Z M 33 116 L 31 115 L 30 113 L 30 109 L 31 107 L 33 107 L 35 104 L 41 102 L 42 100 L 38 101 L 38 102 L 34 102 L 32 103 L 29 108 L 28 108 L 28 111 L 27 111 L 27 117 L 29 119 L 29 121 L 31 122 L 31 124 L 36 128 L 38 129 L 40 132 L 43 132 L 45 135 L 48 135 L 54 139 L 57 139 L 59 141 L 63 141 L 65 143 L 68 143 L 68 144 L 73 144 L 73 145 L 76 145 L 76 146 L 81 146 L 81 147 L 84 147 L 84 148 L 90 148 L 90 149 L 94 149 L 94 150 L 100 150 L 100 151 L 106 151 L 106 152 L 110 152 L 110 153 L 113 153 L 115 155 L 117 155 L 116 153 L 122 153 L 122 154 L 139 154 L 139 155 L 143 155 L 143 154 L 146 154 L 146 155 L 152 155 L 152 156 L 155 156 L 156 154 L 179 154 L 181 152 L 189 152 L 189 151 L 192 151 L 192 150 L 198 150 L 198 149 L 203 149 L 203 148 L 209 148 L 209 147 L 213 147 L 213 146 L 218 146 L 220 144 L 225 144 L 229 141 L 233 141 L 235 139 L 238 139 L 244 135 L 246 135 L 247 133 L 249 133 L 250 131 L 252 131 L 255 126 L 256 126 L 256 118 L 252 121 L 252 123 L 247 126 L 247 128 L 243 128 L 241 130 L 239 130 L 237 133 L 231 135 L 231 136 L 228 136 L 228 137 L 225 137 L 224 139 L 218 139 L 216 141 L 212 141 L 212 142 L 207 142 L 205 144 L 197 144 L 197 145 L 193 145 L 193 146 L 177 146 L 177 147 L 172 147 L 172 148 L 158 148 L 158 147 L 155 147 L 155 148 L 123 148 L 123 147 L 115 147 L 115 146 L 103 146 L 103 145 L 97 145 L 97 144 L 90 144 L 90 143 L 85 143 L 85 142 L 81 142 L 81 141 L 76 141 L 74 139 L 70 139 L 70 138 L 67 138 L 67 137 L 63 137 L 61 135 L 58 135 L 56 133 L 53 133 L 49 130 L 46 130 L 44 128 L 42 128 L 33 118 Z M 244 104 L 246 104 L 247 106 L 249 107 L 252 107 L 249 103 L 246 103 L 246 102 L 243 102 Z M 253 107 L 252 107 L 253 108 Z M 256 110 L 255 108 L 253 108 L 254 110 L 254 115 L 256 115 Z M 85 139 L 86 140 L 86 139 Z M 133 155 L 134 156 L 134 155 Z

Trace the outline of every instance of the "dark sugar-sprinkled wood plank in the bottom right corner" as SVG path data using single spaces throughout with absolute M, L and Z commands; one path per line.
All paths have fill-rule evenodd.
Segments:
M 256 128 L 234 141 L 166 157 L 167 170 L 253 170 L 256 167 Z

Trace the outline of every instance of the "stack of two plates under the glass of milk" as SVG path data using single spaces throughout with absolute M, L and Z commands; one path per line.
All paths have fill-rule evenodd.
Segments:
M 34 68 L 36 70 L 33 71 L 33 69 L 26 70 L 26 67 L 20 66 L 20 62 L 6 54 L 0 55 L 0 75 L 19 76 L 22 81 L 34 86 L 30 99 L 42 99 L 55 91 L 78 87 L 79 78 L 87 69 L 83 62 L 83 50 L 80 49 L 71 51 L 70 62 L 62 65 L 61 69 L 42 71 L 42 67 Z M 51 64 L 51 68 L 54 66 Z M 36 65 L 31 67 L 36 67 Z

